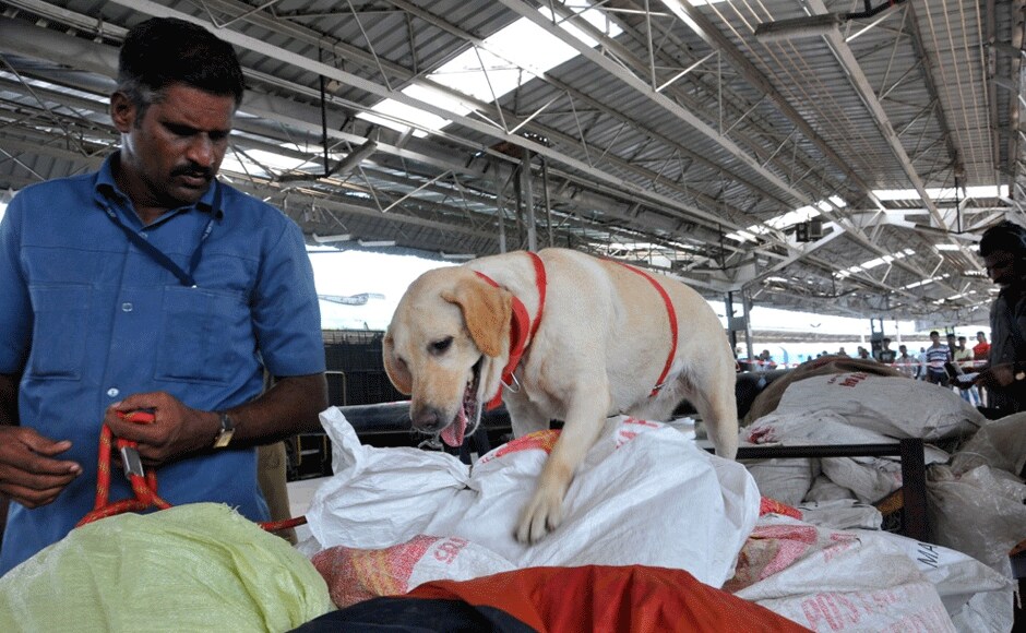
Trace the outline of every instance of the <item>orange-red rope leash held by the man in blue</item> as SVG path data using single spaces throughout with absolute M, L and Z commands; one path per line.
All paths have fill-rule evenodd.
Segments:
M 153 423 L 154 416 L 148 411 L 130 411 L 121 413 L 118 411 L 118 417 L 131 422 L 138 422 L 140 425 L 150 425 Z M 112 447 L 117 447 L 121 452 L 121 459 L 124 463 L 124 475 L 129 478 L 129 481 L 132 485 L 132 491 L 135 493 L 134 499 L 122 499 L 121 501 L 116 501 L 114 503 L 108 503 L 110 497 L 110 451 Z M 104 425 L 104 428 L 99 432 L 99 459 L 98 468 L 96 473 L 96 502 L 93 504 L 93 510 L 82 517 L 75 527 L 85 525 L 87 523 L 93 523 L 100 518 L 106 518 L 108 516 L 115 516 L 116 514 L 122 514 L 124 512 L 142 512 L 151 505 L 156 506 L 160 510 L 166 510 L 171 506 L 170 503 L 165 501 L 157 494 L 157 474 L 154 470 L 150 473 L 144 473 L 142 462 L 139 458 L 138 444 L 130 440 L 122 440 L 117 438 L 115 441 L 114 434 L 110 431 L 110 427 Z M 298 516 L 296 518 L 286 518 L 284 521 L 269 521 L 264 523 L 258 523 L 260 527 L 267 532 L 278 532 L 281 529 L 288 529 L 290 527 L 296 527 L 307 523 L 306 516 Z

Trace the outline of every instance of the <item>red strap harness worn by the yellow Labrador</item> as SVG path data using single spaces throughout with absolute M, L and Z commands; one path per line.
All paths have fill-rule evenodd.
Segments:
M 534 322 L 532 322 L 530 316 L 527 314 L 527 308 L 524 307 L 524 302 L 517 299 L 515 296 L 513 297 L 513 315 L 510 322 L 510 359 L 506 362 L 505 368 L 502 370 L 502 384 L 508 387 L 512 385 L 515 380 L 513 378 L 513 372 L 516 371 L 516 367 L 520 365 L 524 353 L 527 350 L 527 345 L 534 341 L 535 334 L 538 332 L 538 325 L 541 323 L 541 313 L 545 308 L 545 291 L 547 286 L 545 263 L 537 254 L 530 251 L 527 251 L 527 254 L 530 255 L 532 262 L 535 266 L 535 287 L 538 289 L 538 311 L 535 313 Z M 658 380 L 656 380 L 656 385 L 652 389 L 652 393 L 648 394 L 648 397 L 655 397 L 666 385 L 666 377 L 669 374 L 670 368 L 673 366 L 673 357 L 677 356 L 677 310 L 673 309 L 673 302 L 670 300 L 670 296 L 667 294 L 666 288 L 664 288 L 663 285 L 655 279 L 655 277 L 645 271 L 636 268 L 630 264 L 616 262 L 615 260 L 609 261 L 620 264 L 632 273 L 636 273 L 646 278 L 648 283 L 652 284 L 652 287 L 655 288 L 657 292 L 659 292 L 659 296 L 663 298 L 663 303 L 666 306 L 666 312 L 670 321 L 670 353 L 666 357 L 666 363 L 664 363 L 663 372 L 659 374 Z M 497 284 L 496 280 L 488 275 L 477 272 L 477 276 L 485 279 L 496 288 L 499 287 L 499 284 Z M 486 406 L 488 410 L 492 410 L 500 404 L 502 404 L 502 386 L 499 387 L 499 391 Z

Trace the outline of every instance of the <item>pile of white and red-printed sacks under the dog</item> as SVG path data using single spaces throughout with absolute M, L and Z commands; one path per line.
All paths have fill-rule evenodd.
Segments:
M 322 422 L 336 475 L 315 494 L 313 536 L 299 547 L 339 607 L 440 580 L 646 565 L 688 570 L 812 630 L 979 631 L 985 618 L 1002 626 L 988 599 L 1004 595 L 1006 577 L 945 548 L 802 521 L 669 426 L 610 419 L 568 492 L 563 525 L 525 547 L 512 535 L 554 432 L 468 468 L 440 453 L 362 446 L 338 411 Z

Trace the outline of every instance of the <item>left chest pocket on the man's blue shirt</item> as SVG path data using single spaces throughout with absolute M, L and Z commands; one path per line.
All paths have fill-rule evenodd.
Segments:
M 28 374 L 79 380 L 85 358 L 92 287 L 84 284 L 29 286 L 33 331 Z

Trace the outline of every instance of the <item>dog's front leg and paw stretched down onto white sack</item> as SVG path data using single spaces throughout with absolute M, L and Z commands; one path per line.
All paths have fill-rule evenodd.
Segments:
M 578 391 L 566 411 L 559 440 L 541 469 L 535 494 L 521 514 L 516 529 L 518 541 L 537 542 L 562 522 L 563 495 L 577 466 L 601 433 L 607 397 L 595 397 L 595 390 Z

